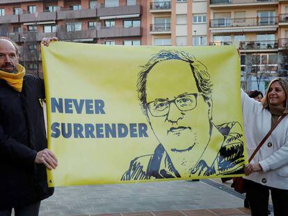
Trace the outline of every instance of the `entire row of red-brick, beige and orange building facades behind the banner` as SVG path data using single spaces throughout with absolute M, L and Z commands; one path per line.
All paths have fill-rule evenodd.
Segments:
M 235 44 L 241 84 L 264 90 L 287 76 L 288 0 L 2 0 L 0 34 L 22 46 L 36 74 L 44 37 L 118 45 Z

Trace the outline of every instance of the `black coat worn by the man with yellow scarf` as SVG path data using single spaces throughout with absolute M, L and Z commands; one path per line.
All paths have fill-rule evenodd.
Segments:
M 35 165 L 37 151 L 47 147 L 41 103 L 44 82 L 24 76 L 22 92 L 0 80 L 0 210 L 45 199 L 45 165 Z

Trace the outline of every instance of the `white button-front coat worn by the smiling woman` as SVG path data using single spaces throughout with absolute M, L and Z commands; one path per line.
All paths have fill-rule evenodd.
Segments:
M 271 113 L 262 103 L 241 90 L 244 133 L 248 158 L 271 128 Z M 288 190 L 288 116 L 282 119 L 251 163 L 259 163 L 262 172 L 244 178 L 273 188 Z

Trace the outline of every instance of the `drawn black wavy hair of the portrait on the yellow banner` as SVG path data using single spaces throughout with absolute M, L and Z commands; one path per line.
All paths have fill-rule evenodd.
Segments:
M 154 54 L 154 56 L 150 58 L 146 65 L 141 67 L 141 72 L 138 74 L 138 99 L 141 101 L 141 108 L 145 115 L 147 115 L 147 75 L 155 65 L 166 60 L 182 60 L 186 63 L 189 63 L 198 91 L 202 93 L 205 101 L 211 99 L 211 88 L 213 85 L 211 84 L 210 75 L 208 74 L 207 67 L 205 67 L 205 65 L 198 61 L 194 56 L 190 56 L 189 53 L 186 53 L 185 51 L 161 50 L 159 53 Z

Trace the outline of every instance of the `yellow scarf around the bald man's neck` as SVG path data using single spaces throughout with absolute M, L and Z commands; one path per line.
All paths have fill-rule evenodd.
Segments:
M 0 79 L 6 81 L 8 85 L 14 88 L 17 92 L 22 91 L 24 75 L 25 68 L 20 64 L 17 65 L 17 74 L 3 72 L 0 70 Z

